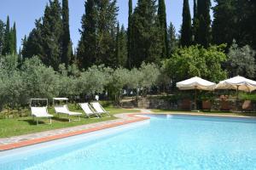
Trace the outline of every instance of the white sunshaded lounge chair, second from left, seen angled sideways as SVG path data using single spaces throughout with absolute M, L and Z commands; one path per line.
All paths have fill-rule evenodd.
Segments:
M 55 100 L 59 100 L 59 101 L 65 101 L 65 105 L 55 105 Z M 55 108 L 55 113 L 57 115 L 60 115 L 60 114 L 65 114 L 68 116 L 68 122 L 71 122 L 71 119 L 70 119 L 70 116 L 79 116 L 79 119 L 77 120 L 73 120 L 73 121 L 80 121 L 80 115 L 82 115 L 82 113 L 79 113 L 79 112 L 75 112 L 75 111 L 69 111 L 68 110 L 68 107 L 67 107 L 67 98 L 54 98 L 53 99 L 53 105 L 54 105 L 54 108 Z

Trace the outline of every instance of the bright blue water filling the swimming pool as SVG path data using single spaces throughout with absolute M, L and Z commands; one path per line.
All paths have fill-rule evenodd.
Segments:
M 0 169 L 256 169 L 256 121 L 151 116 L 148 122 L 0 152 Z

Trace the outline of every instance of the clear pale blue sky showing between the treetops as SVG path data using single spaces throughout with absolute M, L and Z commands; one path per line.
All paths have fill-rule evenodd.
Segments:
M 44 8 L 48 2 L 49 0 L 1 0 L 0 20 L 6 22 L 7 15 L 9 15 L 10 24 L 13 25 L 16 22 L 18 48 L 21 45 L 21 38 L 28 35 L 35 27 L 35 20 L 44 15 Z M 132 3 L 133 7 L 135 7 L 137 0 L 132 0 Z M 119 23 L 127 27 L 128 0 L 117 0 L 117 5 L 119 7 Z M 193 16 L 193 0 L 189 0 L 189 5 L 191 16 Z M 169 25 L 172 22 L 176 31 L 179 31 L 182 24 L 182 8 L 183 0 L 166 0 L 167 24 Z M 81 18 L 84 14 L 84 0 L 69 0 L 69 13 L 70 34 L 73 48 L 75 48 L 80 38 L 79 29 L 81 28 Z

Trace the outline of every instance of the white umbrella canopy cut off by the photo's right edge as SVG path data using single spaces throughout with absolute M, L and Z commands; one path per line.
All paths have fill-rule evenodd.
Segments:
M 237 76 L 218 82 L 216 89 L 235 89 L 252 92 L 253 90 L 256 90 L 256 82 L 245 77 Z

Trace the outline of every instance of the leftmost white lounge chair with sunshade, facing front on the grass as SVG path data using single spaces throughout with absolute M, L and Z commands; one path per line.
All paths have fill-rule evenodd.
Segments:
M 31 99 L 31 104 L 30 104 L 30 108 L 31 108 L 31 113 L 33 116 L 33 119 L 36 118 L 49 118 L 49 124 L 51 124 L 51 117 L 53 117 L 52 115 L 50 115 L 47 111 L 47 106 L 32 106 L 32 101 L 39 101 L 39 100 L 45 100 L 47 102 L 46 105 L 48 105 L 48 99 Z M 38 125 L 38 119 L 37 119 L 37 125 Z

